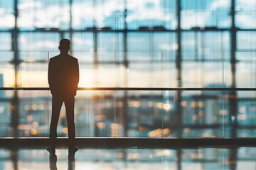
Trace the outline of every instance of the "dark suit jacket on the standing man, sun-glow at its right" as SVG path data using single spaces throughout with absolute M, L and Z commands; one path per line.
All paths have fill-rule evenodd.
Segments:
M 71 55 L 57 55 L 50 58 L 48 83 L 53 96 L 75 96 L 78 82 L 78 59 Z

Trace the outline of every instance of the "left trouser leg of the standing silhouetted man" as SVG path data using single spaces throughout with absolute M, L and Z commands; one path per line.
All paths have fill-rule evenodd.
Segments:
M 63 98 L 59 96 L 53 96 L 52 101 L 52 116 L 50 120 L 50 140 L 55 142 L 57 138 L 57 125 L 60 117 L 60 108 L 63 104 Z

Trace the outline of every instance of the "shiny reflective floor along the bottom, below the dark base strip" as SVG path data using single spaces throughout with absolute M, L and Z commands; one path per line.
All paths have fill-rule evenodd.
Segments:
M 1 149 L 0 169 L 250 169 L 256 170 L 256 148 L 79 148 L 68 157 L 67 147 L 55 156 L 45 148 Z

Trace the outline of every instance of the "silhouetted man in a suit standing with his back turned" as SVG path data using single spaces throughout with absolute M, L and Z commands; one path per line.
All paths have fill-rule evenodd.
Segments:
M 75 123 L 74 106 L 75 95 L 79 82 L 78 59 L 68 55 L 70 50 L 70 40 L 60 40 L 60 55 L 50 58 L 48 67 L 48 83 L 50 93 L 53 95 L 52 117 L 50 122 L 49 152 L 55 154 L 55 140 L 57 139 L 57 125 L 60 116 L 60 108 L 65 103 L 66 117 L 68 123 L 69 152 L 76 152 L 78 149 L 74 145 Z

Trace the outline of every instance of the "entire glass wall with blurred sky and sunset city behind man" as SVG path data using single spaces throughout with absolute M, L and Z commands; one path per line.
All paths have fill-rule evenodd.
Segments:
M 0 0 L 0 136 L 48 137 L 48 61 L 68 38 L 79 86 L 114 87 L 78 91 L 77 137 L 255 137 L 255 17 L 247 0 Z

